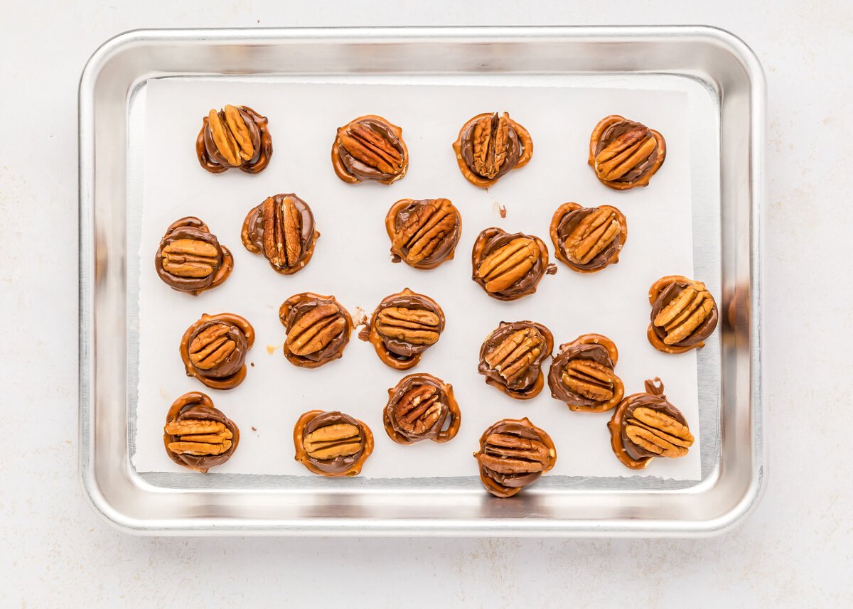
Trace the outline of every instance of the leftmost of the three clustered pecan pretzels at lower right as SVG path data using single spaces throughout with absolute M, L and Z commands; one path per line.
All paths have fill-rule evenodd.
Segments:
M 542 363 L 554 351 L 548 328 L 534 322 L 501 322 L 483 341 L 479 374 L 509 397 L 536 397 L 545 384 Z

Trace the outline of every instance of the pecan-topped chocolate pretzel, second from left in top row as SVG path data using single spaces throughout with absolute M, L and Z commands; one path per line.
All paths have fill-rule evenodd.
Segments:
M 361 116 L 343 127 L 332 144 L 334 172 L 344 182 L 397 182 L 409 170 L 403 130 L 380 116 Z

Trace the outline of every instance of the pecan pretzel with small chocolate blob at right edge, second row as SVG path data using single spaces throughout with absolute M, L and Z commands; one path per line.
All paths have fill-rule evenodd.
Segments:
M 548 248 L 538 237 L 510 234 L 491 228 L 474 241 L 472 279 L 493 299 L 515 300 L 536 292 L 543 276 L 556 267 L 548 264 Z

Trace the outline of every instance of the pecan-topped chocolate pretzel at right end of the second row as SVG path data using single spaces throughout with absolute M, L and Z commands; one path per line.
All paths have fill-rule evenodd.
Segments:
M 579 273 L 595 273 L 619 261 L 628 223 L 616 207 L 564 203 L 551 218 L 554 256 Z

